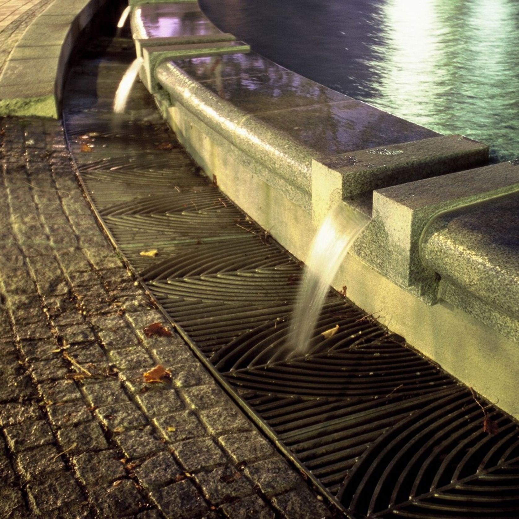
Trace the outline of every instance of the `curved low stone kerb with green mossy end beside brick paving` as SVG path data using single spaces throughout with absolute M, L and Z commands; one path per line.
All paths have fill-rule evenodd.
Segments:
M 0 75 L 0 116 L 60 118 L 67 63 L 107 0 L 55 0 L 25 30 Z

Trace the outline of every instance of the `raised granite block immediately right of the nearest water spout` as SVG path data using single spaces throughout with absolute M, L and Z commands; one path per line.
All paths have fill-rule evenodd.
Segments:
M 376 190 L 373 220 L 353 251 L 394 283 L 435 303 L 438 276 L 419 258 L 428 222 L 443 211 L 517 189 L 519 165 L 503 162 Z

